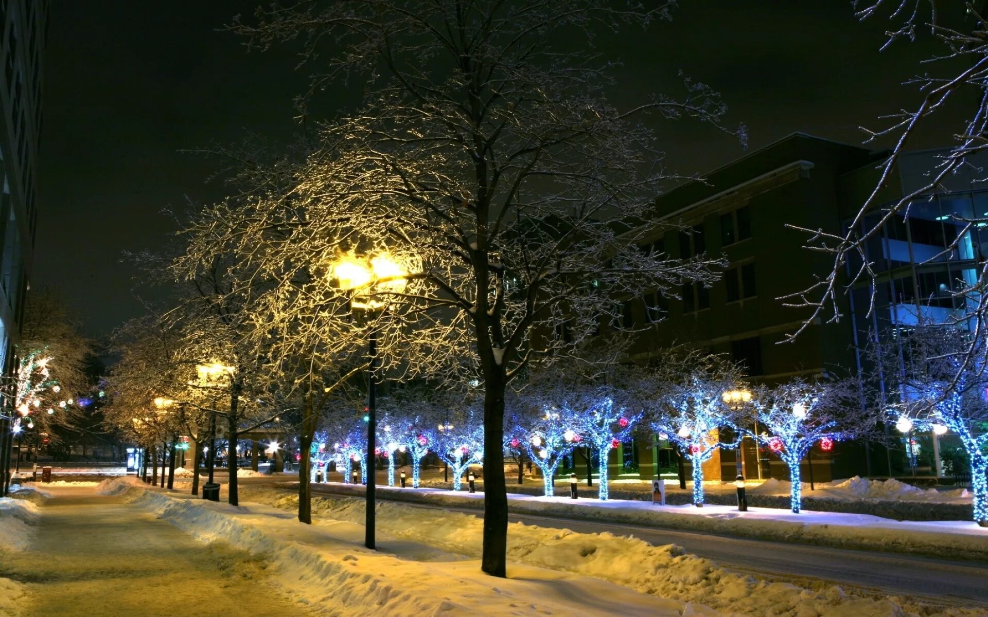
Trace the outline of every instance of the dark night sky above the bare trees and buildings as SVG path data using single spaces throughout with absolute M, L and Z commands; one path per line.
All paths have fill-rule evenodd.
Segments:
M 40 215 L 32 276 L 54 286 L 105 335 L 141 312 L 124 251 L 153 250 L 174 223 L 166 207 L 210 201 L 217 163 L 183 149 L 233 143 L 247 131 L 279 140 L 295 130 L 292 98 L 304 86 L 287 49 L 248 52 L 217 32 L 257 0 L 170 3 L 55 0 L 46 49 Z M 745 122 L 750 148 L 795 130 L 851 143 L 860 125 L 915 92 L 900 86 L 929 55 L 923 44 L 877 49 L 887 23 L 861 25 L 850 2 L 684 0 L 672 23 L 601 39 L 617 71 L 612 102 L 676 92 L 680 70 L 720 90 L 729 121 Z M 339 93 L 328 93 L 327 109 Z M 353 94 L 350 94 L 352 98 Z M 336 97 L 336 98 L 334 98 Z M 958 118 L 959 120 L 959 118 Z M 658 124 L 667 165 L 714 169 L 743 154 L 690 121 Z M 929 136 L 919 147 L 940 145 Z

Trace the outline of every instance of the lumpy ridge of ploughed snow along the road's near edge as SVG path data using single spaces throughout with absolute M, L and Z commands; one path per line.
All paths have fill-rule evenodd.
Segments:
M 245 500 L 295 509 L 297 497 L 271 488 L 247 488 Z M 313 498 L 313 513 L 324 524 L 362 523 L 364 503 L 354 498 Z M 438 512 L 393 502 L 378 502 L 378 529 L 398 538 L 478 557 L 483 521 L 461 512 Z M 872 600 L 846 594 L 838 586 L 812 591 L 793 584 L 742 576 L 710 560 L 686 554 L 679 546 L 652 546 L 611 533 L 575 533 L 511 523 L 509 559 L 524 564 L 602 578 L 641 593 L 700 603 L 719 614 L 817 615 L 820 617 L 899 616 L 912 614 L 895 598 Z M 616 607 L 617 608 L 617 607 Z M 957 614 L 982 614 L 976 612 Z

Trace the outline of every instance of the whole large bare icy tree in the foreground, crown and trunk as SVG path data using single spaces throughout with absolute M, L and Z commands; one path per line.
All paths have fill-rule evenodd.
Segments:
M 359 109 L 306 142 L 290 198 L 261 195 L 245 215 L 290 230 L 275 247 L 281 264 L 358 249 L 407 262 L 408 288 L 377 293 L 392 305 L 382 319 L 403 323 L 418 356 L 408 366 L 452 359 L 456 370 L 434 378 L 482 382 L 481 568 L 494 576 L 505 576 L 509 382 L 530 358 L 565 354 L 619 314 L 617 297 L 676 296 L 715 278 L 704 257 L 639 251 L 645 228 L 626 222 L 649 218 L 669 178 L 637 118 L 691 116 L 720 129 L 724 106 L 688 81 L 680 98 L 617 110 L 591 48 L 596 29 L 669 15 L 665 4 L 597 0 L 386 0 L 276 5 L 233 25 L 260 46 L 306 41 L 307 58 L 328 62 L 311 93 L 336 77 L 372 77 Z M 574 37 L 581 44 L 560 46 Z M 339 46 L 320 53 L 329 40 Z

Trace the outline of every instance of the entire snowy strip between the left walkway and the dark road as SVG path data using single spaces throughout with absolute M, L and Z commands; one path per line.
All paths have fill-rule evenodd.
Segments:
M 103 490 L 125 494 L 206 542 L 265 555 L 285 591 L 326 614 L 988 615 L 855 597 L 837 586 L 813 591 L 732 574 L 674 545 L 523 524 L 509 531 L 511 578 L 492 581 L 478 572 L 482 522 L 469 514 L 381 503 L 380 551 L 373 553 L 361 547 L 358 500 L 314 500 L 318 524 L 310 527 L 294 521 L 293 512 L 261 504 L 190 500 L 121 480 Z M 296 505 L 283 491 L 263 487 L 245 488 L 243 498 Z

